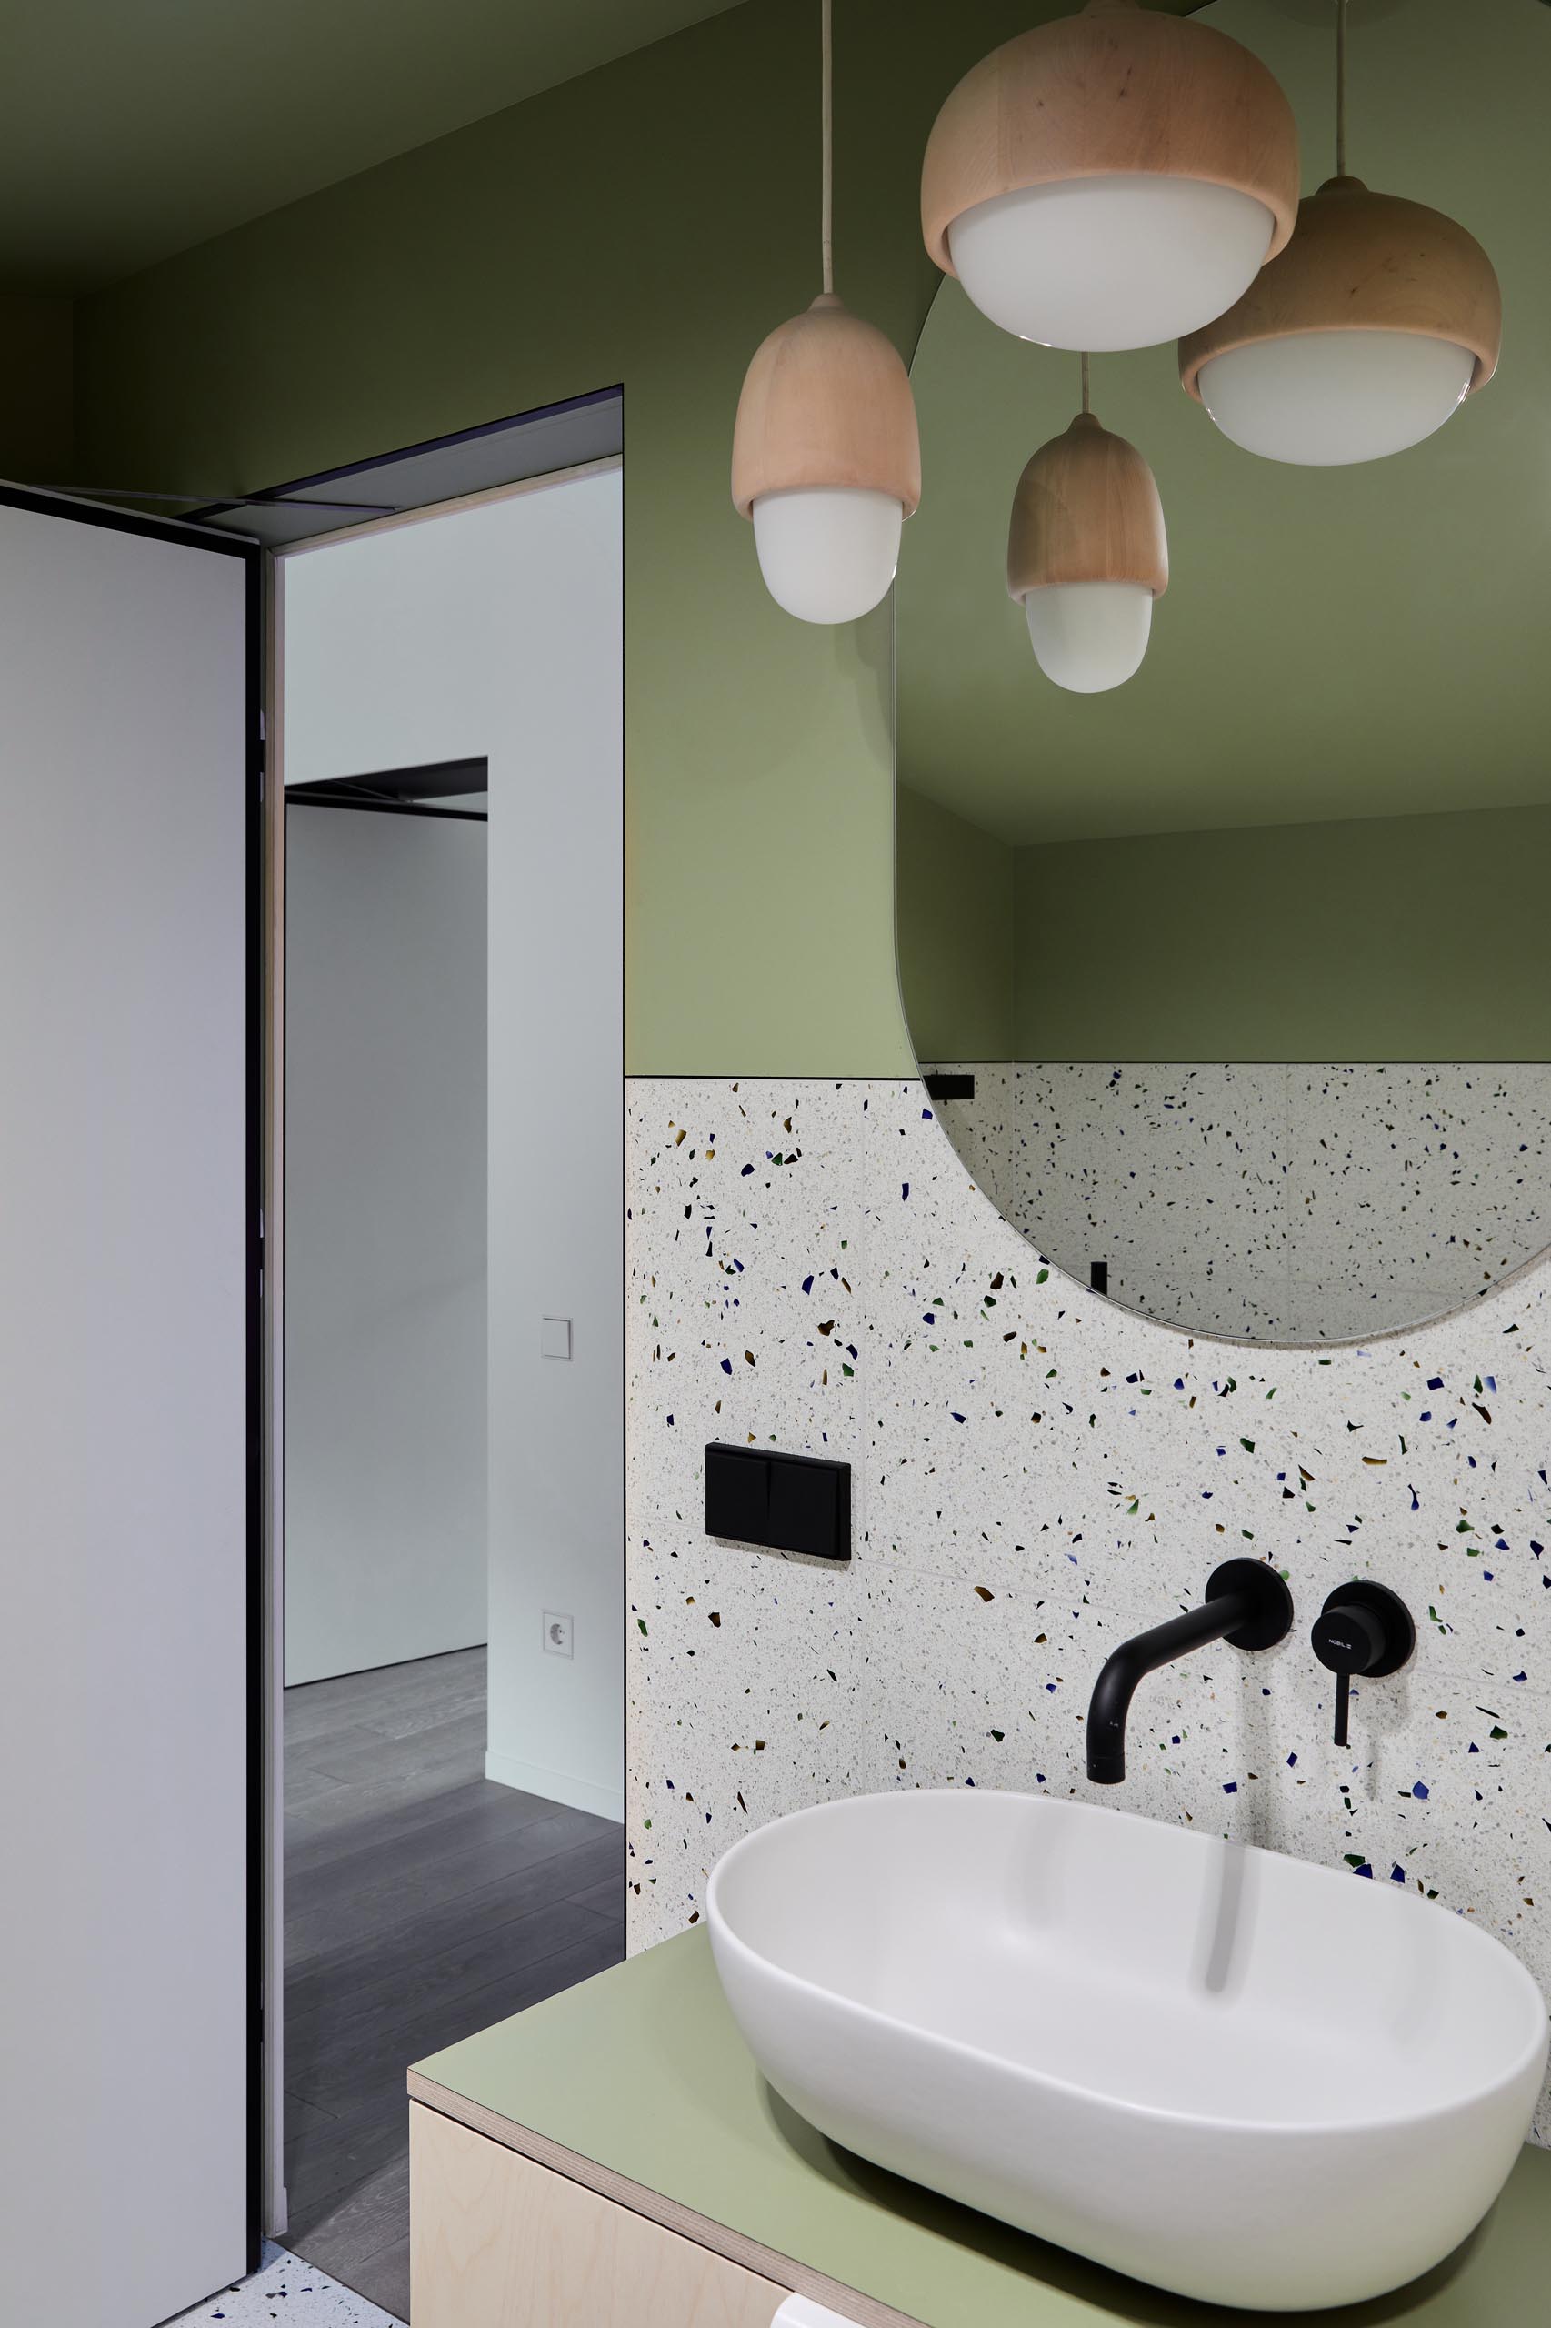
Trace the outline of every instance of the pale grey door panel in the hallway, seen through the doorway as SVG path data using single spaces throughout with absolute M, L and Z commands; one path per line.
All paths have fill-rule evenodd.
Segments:
M 484 857 L 286 817 L 289 1685 L 484 1639 Z

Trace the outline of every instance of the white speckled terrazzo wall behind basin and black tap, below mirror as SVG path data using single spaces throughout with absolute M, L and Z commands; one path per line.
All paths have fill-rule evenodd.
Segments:
M 920 1083 L 640 1078 L 626 1173 L 633 1946 L 806 1802 L 1088 1797 L 1104 1655 L 1248 1553 L 1292 1637 L 1153 1674 L 1095 1800 L 1421 1888 L 1551 1990 L 1551 1269 L 1365 1348 L 1190 1339 L 1043 1262 Z M 710 1439 L 850 1460 L 850 1567 L 708 1539 Z M 1341 1753 L 1351 1576 L 1418 1653 Z

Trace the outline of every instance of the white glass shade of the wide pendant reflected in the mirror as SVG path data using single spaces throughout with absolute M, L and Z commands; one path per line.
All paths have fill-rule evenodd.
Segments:
M 1202 365 L 1202 403 L 1225 438 L 1267 461 L 1337 468 L 1404 452 L 1463 403 L 1476 359 L 1416 331 L 1299 331 Z

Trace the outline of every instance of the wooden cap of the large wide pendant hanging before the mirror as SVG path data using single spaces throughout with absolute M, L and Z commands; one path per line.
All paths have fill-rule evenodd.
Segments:
M 948 95 L 922 165 L 927 249 L 952 275 L 948 228 L 966 210 L 1022 186 L 1129 175 L 1253 196 L 1276 221 L 1276 254 L 1297 217 L 1297 123 L 1260 58 L 1225 33 L 1136 0 L 1088 0 L 992 49 Z

